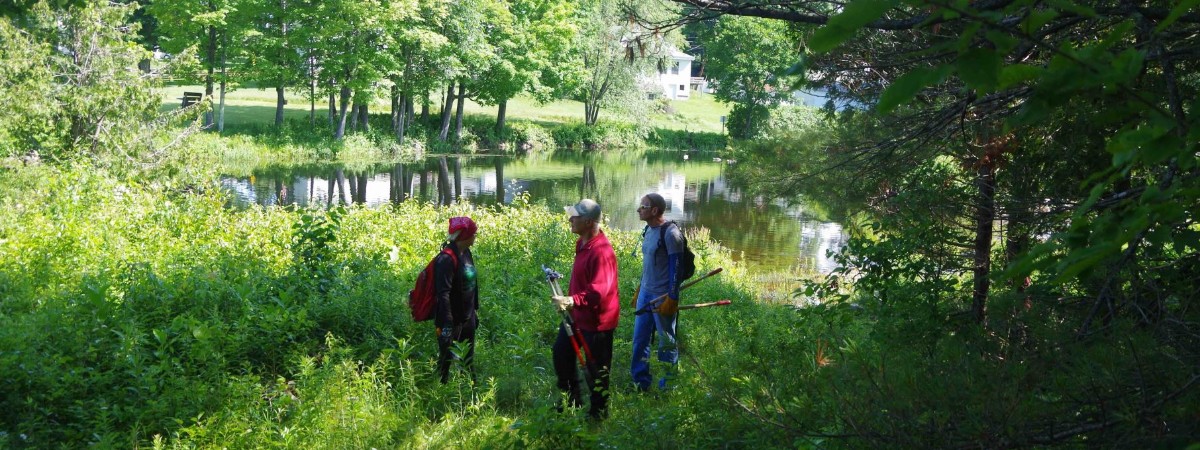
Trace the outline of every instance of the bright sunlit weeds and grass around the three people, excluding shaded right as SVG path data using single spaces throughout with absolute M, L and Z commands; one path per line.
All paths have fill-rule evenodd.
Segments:
M 790 310 L 750 301 L 749 276 L 702 235 L 691 241 L 698 265 L 726 271 L 691 299 L 734 306 L 686 313 L 679 389 L 661 396 L 629 389 L 632 316 L 623 311 L 613 415 L 596 425 L 553 413 L 557 316 L 539 268 L 568 271 L 574 238 L 544 206 L 233 211 L 217 190 L 47 167 L 0 173 L 0 205 L 2 446 L 629 448 L 653 437 L 696 448 L 776 438 L 714 394 L 758 364 L 744 346 L 781 334 Z M 404 293 L 446 217 L 462 214 L 481 229 L 479 383 L 456 373 L 442 386 L 432 325 L 412 322 Z M 630 299 L 637 236 L 612 239 Z M 784 360 L 778 352 L 762 356 Z

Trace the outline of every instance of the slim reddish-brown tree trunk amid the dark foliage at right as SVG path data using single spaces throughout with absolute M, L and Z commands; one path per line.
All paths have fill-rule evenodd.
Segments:
M 996 170 L 990 158 L 982 160 L 976 174 L 976 212 L 974 212 L 974 289 L 971 301 L 971 313 L 976 323 L 986 318 L 988 290 L 991 281 L 991 232 L 996 220 Z

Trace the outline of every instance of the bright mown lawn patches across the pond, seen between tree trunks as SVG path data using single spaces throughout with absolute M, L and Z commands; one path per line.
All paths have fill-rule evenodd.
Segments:
M 167 86 L 162 89 L 163 107 L 170 109 L 179 106 L 179 98 L 184 92 L 203 92 L 203 86 Z M 284 115 L 289 119 L 308 118 L 310 103 L 301 95 L 288 92 L 288 104 Z M 674 114 L 652 114 L 649 124 L 658 128 L 688 130 L 696 132 L 720 132 L 722 115 L 728 115 L 730 107 L 716 102 L 712 95 L 692 92 L 691 100 L 670 101 Z M 270 124 L 275 120 L 275 90 L 244 88 L 226 94 L 226 124 Z M 388 100 L 379 98 L 371 104 L 376 113 L 388 110 Z M 317 115 L 328 108 L 326 102 L 317 102 Z M 420 107 L 418 107 L 420 108 Z M 434 106 L 434 109 L 437 107 Z M 467 114 L 496 116 L 494 106 L 481 106 L 470 100 L 464 109 Z M 562 124 L 568 121 L 583 120 L 583 103 L 559 100 L 546 104 L 538 104 L 528 97 L 517 97 L 509 101 L 508 116 L 510 120 L 524 119 L 536 122 Z M 612 120 L 612 114 L 601 112 L 600 120 Z

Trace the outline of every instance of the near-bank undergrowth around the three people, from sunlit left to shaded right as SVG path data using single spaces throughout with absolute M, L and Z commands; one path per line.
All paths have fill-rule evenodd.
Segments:
M 684 301 L 733 306 L 683 313 L 676 388 L 650 395 L 630 388 L 623 311 L 612 416 L 593 424 L 554 412 L 558 319 L 539 268 L 569 266 L 574 238 L 562 214 L 520 202 L 230 210 L 211 181 L 172 186 L 94 167 L 0 169 L 0 448 L 1195 442 L 1200 398 L 1187 388 L 1196 378 L 1176 365 L 1195 346 L 1156 346 L 1153 330 L 1116 320 L 1079 340 L 1063 314 L 1078 305 L 1019 292 L 991 304 L 1012 322 L 976 326 L 954 294 L 967 277 L 887 278 L 898 264 L 878 262 L 910 262 L 919 241 L 852 240 L 850 257 L 866 254 L 857 264 L 869 269 L 854 286 L 820 287 L 827 302 L 803 310 L 773 305 L 760 295 L 768 280 L 733 265 L 703 233 L 690 236 L 697 265 L 726 271 Z M 443 386 L 432 326 L 413 323 L 403 299 L 446 218 L 462 214 L 480 223 L 479 378 L 456 371 Z M 611 238 L 628 301 L 638 236 Z M 1144 421 L 1120 413 L 1106 419 L 1111 428 L 1042 440 L 1064 418 L 1109 414 L 1090 396 L 1140 389 L 1130 379 L 1171 394 L 1158 416 L 1168 434 L 1138 434 Z

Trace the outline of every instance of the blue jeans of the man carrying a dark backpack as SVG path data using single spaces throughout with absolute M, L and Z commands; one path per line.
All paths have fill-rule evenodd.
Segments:
M 664 293 L 652 293 L 642 290 L 637 295 L 637 308 L 646 307 L 646 304 L 662 295 Z M 659 361 L 666 362 L 667 373 L 659 380 L 659 388 L 666 389 L 667 382 L 674 372 L 676 364 L 679 362 L 679 347 L 676 343 L 676 316 L 659 316 L 647 313 L 634 317 L 634 358 L 629 367 L 629 374 L 634 377 L 637 389 L 650 389 L 654 377 L 650 376 L 650 340 L 659 335 Z

